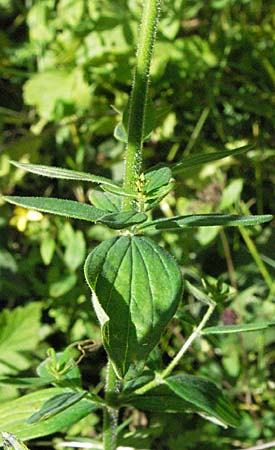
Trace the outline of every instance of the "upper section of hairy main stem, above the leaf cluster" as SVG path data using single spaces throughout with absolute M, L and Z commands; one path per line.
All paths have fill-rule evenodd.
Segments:
M 143 133 L 148 101 L 149 75 L 156 38 L 160 0 L 144 0 L 139 29 L 136 67 L 129 104 L 128 142 L 125 155 L 124 188 L 136 193 L 136 182 L 142 163 Z M 124 199 L 124 209 L 131 209 L 132 200 Z

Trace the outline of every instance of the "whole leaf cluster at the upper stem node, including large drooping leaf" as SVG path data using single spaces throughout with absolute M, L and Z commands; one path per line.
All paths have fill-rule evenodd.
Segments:
M 242 149 L 236 149 L 236 152 Z M 220 152 L 220 157 L 228 152 Z M 225 154 L 226 153 L 226 154 Z M 207 158 L 189 158 L 189 165 L 200 165 Z M 33 164 L 13 163 L 29 172 L 52 178 L 88 181 L 99 184 L 103 191 L 91 196 L 95 206 L 72 200 L 40 197 L 6 197 L 10 203 L 41 212 L 103 223 L 110 228 L 135 226 L 145 229 L 182 229 L 186 226 L 254 225 L 272 216 L 236 216 L 202 214 L 175 216 L 147 221 L 144 212 L 121 211 L 121 197 L 133 196 L 113 181 L 83 172 Z M 179 163 L 180 164 L 180 163 Z M 177 164 L 176 170 L 179 170 Z M 171 170 L 153 169 L 145 174 L 140 193 L 145 209 L 152 208 L 171 189 Z M 133 196 L 134 198 L 134 196 Z M 132 378 L 140 373 L 151 350 L 173 317 L 182 294 L 180 269 L 163 248 L 150 238 L 130 232 L 115 236 L 97 246 L 85 263 L 86 280 L 92 290 L 95 312 L 102 328 L 104 347 L 119 378 Z

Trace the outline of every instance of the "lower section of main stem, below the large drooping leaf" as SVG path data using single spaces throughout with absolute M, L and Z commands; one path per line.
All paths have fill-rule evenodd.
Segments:
M 114 372 L 113 366 L 110 362 L 107 365 L 106 386 L 105 386 L 105 400 L 112 403 L 114 396 L 119 390 L 118 380 Z M 104 407 L 103 412 L 103 449 L 116 450 L 117 448 L 117 422 L 118 409 L 110 406 Z

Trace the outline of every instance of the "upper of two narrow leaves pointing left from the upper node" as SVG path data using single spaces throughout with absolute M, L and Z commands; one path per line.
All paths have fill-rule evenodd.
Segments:
M 63 169 L 61 167 L 42 166 L 40 164 L 27 164 L 17 161 L 10 161 L 18 169 L 25 170 L 26 172 L 35 173 L 36 175 L 42 175 L 49 178 L 59 178 L 62 180 L 74 180 L 74 181 L 88 181 L 96 184 L 106 184 L 113 186 L 116 189 L 120 189 L 112 180 L 105 177 L 99 177 L 97 175 L 91 175 L 86 172 L 78 172 L 70 169 Z M 123 190 L 122 190 L 123 191 Z

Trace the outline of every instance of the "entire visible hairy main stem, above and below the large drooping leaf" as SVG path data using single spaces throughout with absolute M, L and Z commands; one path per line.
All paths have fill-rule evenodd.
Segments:
M 144 0 L 139 29 L 136 67 L 129 104 L 128 142 L 125 154 L 124 188 L 131 194 L 137 193 L 137 180 L 141 170 L 142 147 L 148 101 L 150 65 L 156 38 L 160 0 Z M 123 208 L 132 208 L 132 197 L 125 197 Z M 119 391 L 118 380 L 109 362 L 106 376 L 105 400 L 112 405 Z M 103 448 L 116 450 L 118 409 L 104 408 Z

